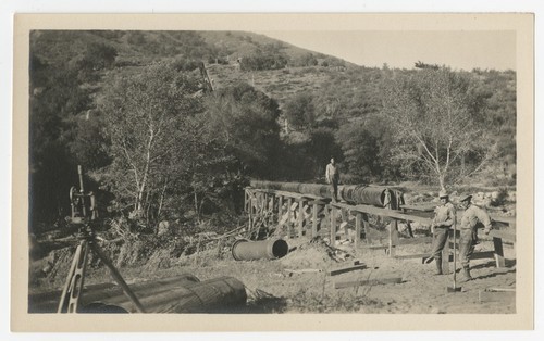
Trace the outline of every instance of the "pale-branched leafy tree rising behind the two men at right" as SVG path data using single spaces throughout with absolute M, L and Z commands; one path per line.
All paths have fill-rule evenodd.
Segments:
M 441 188 L 480 171 L 493 155 L 469 105 L 470 78 L 449 68 L 424 68 L 391 79 L 383 114 L 393 128 L 393 156 L 420 166 Z

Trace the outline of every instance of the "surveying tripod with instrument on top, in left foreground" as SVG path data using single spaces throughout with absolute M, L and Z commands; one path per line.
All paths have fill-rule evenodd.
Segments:
M 70 205 L 72 207 L 70 223 L 77 226 L 77 239 L 79 243 L 75 250 L 74 258 L 72 260 L 72 265 L 62 290 L 57 313 L 78 313 L 89 249 L 95 252 L 103 264 L 106 264 L 113 279 L 134 303 L 137 311 L 139 313 L 145 313 L 141 303 L 97 243 L 95 230 L 92 229 L 98 218 L 95 194 L 92 192 L 85 193 L 84 191 L 82 166 L 77 166 L 77 173 L 79 176 L 79 191 L 77 191 L 74 186 L 70 189 Z

